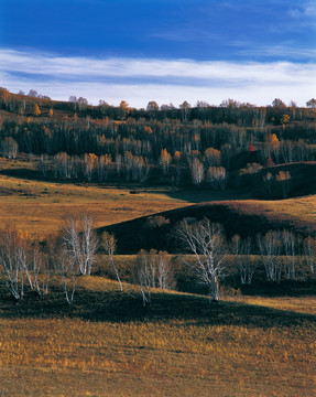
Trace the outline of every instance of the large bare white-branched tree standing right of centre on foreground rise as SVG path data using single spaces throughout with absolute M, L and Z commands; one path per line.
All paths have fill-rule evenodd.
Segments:
M 193 266 L 198 282 L 209 288 L 214 301 L 219 300 L 219 280 L 226 276 L 226 242 L 222 227 L 208 218 L 200 222 L 181 222 L 175 230 L 177 239 L 194 254 Z

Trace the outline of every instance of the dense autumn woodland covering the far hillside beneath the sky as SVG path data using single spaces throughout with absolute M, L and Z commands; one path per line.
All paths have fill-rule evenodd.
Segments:
M 281 99 L 257 107 L 184 101 L 133 109 L 70 97 L 53 101 L 0 90 L 3 157 L 37 158 L 44 178 L 85 182 L 194 184 L 225 190 L 236 176 L 261 172 L 265 196 L 290 194 L 291 173 L 271 167 L 316 160 L 316 100 Z M 269 171 L 264 173 L 264 169 Z M 275 189 L 275 185 L 280 185 Z M 275 193 L 276 192 L 276 193 Z

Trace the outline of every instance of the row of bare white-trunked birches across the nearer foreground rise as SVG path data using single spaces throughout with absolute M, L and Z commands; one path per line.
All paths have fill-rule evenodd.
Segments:
M 8 228 L 0 238 L 0 267 L 7 290 L 17 300 L 23 299 L 26 290 L 44 297 L 55 279 L 70 304 L 77 278 L 92 275 L 101 256 L 107 255 L 122 291 L 115 257 L 116 238 L 107 232 L 98 236 L 92 226 L 87 214 L 68 218 L 59 236 L 44 245 L 33 242 L 28 233 Z M 315 281 L 316 239 L 287 229 L 269 230 L 255 238 L 235 235 L 227 240 L 221 225 L 208 218 L 199 222 L 185 218 L 173 228 L 173 236 L 183 253 L 182 277 L 193 277 L 215 301 L 220 299 L 220 282 L 231 277 L 238 278 L 238 285 L 251 285 L 255 277 L 272 283 Z M 166 251 L 142 249 L 130 271 L 143 305 L 151 303 L 152 288 L 177 288 Z

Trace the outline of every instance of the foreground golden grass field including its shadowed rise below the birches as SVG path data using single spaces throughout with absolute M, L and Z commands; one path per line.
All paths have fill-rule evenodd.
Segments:
M 10 313 L 2 300 L 1 396 L 315 395 L 315 298 L 304 310 L 155 290 L 143 309 L 135 287 L 92 276 L 73 307 L 62 299 L 26 297 Z

